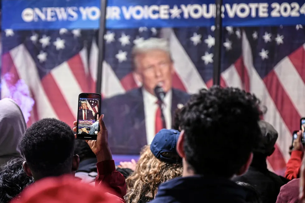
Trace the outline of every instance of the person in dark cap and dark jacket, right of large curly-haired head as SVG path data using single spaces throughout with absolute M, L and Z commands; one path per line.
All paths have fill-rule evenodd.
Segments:
M 274 203 L 280 188 L 289 180 L 272 173 L 267 168 L 267 157 L 271 156 L 275 150 L 278 132 L 266 121 L 259 121 L 258 124 L 262 136 L 259 145 L 253 150 L 253 160 L 249 170 L 232 180 L 255 185 L 264 203 Z

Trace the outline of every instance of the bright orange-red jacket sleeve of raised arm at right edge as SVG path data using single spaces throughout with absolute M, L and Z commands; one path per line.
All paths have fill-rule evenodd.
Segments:
M 300 168 L 302 164 L 303 152 L 293 150 L 291 157 L 286 164 L 285 178 L 292 180 L 299 177 Z

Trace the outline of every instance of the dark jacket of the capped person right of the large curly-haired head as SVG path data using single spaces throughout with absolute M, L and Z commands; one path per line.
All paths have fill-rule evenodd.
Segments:
M 264 203 L 275 203 L 280 188 L 289 180 L 270 172 L 265 157 L 254 158 L 249 170 L 242 176 L 232 179 L 234 182 L 246 182 L 256 188 Z

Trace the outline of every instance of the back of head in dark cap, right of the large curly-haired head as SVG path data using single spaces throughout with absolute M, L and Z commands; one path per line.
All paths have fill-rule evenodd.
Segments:
M 258 146 L 253 150 L 255 154 L 264 155 L 265 157 L 272 155 L 275 150 L 275 142 L 278 139 L 278 132 L 266 121 L 258 122 L 261 130 L 261 139 Z

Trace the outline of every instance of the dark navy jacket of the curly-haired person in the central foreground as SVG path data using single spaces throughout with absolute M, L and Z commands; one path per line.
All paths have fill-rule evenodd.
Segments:
M 160 185 L 152 203 L 245 203 L 242 187 L 225 178 L 181 177 Z

